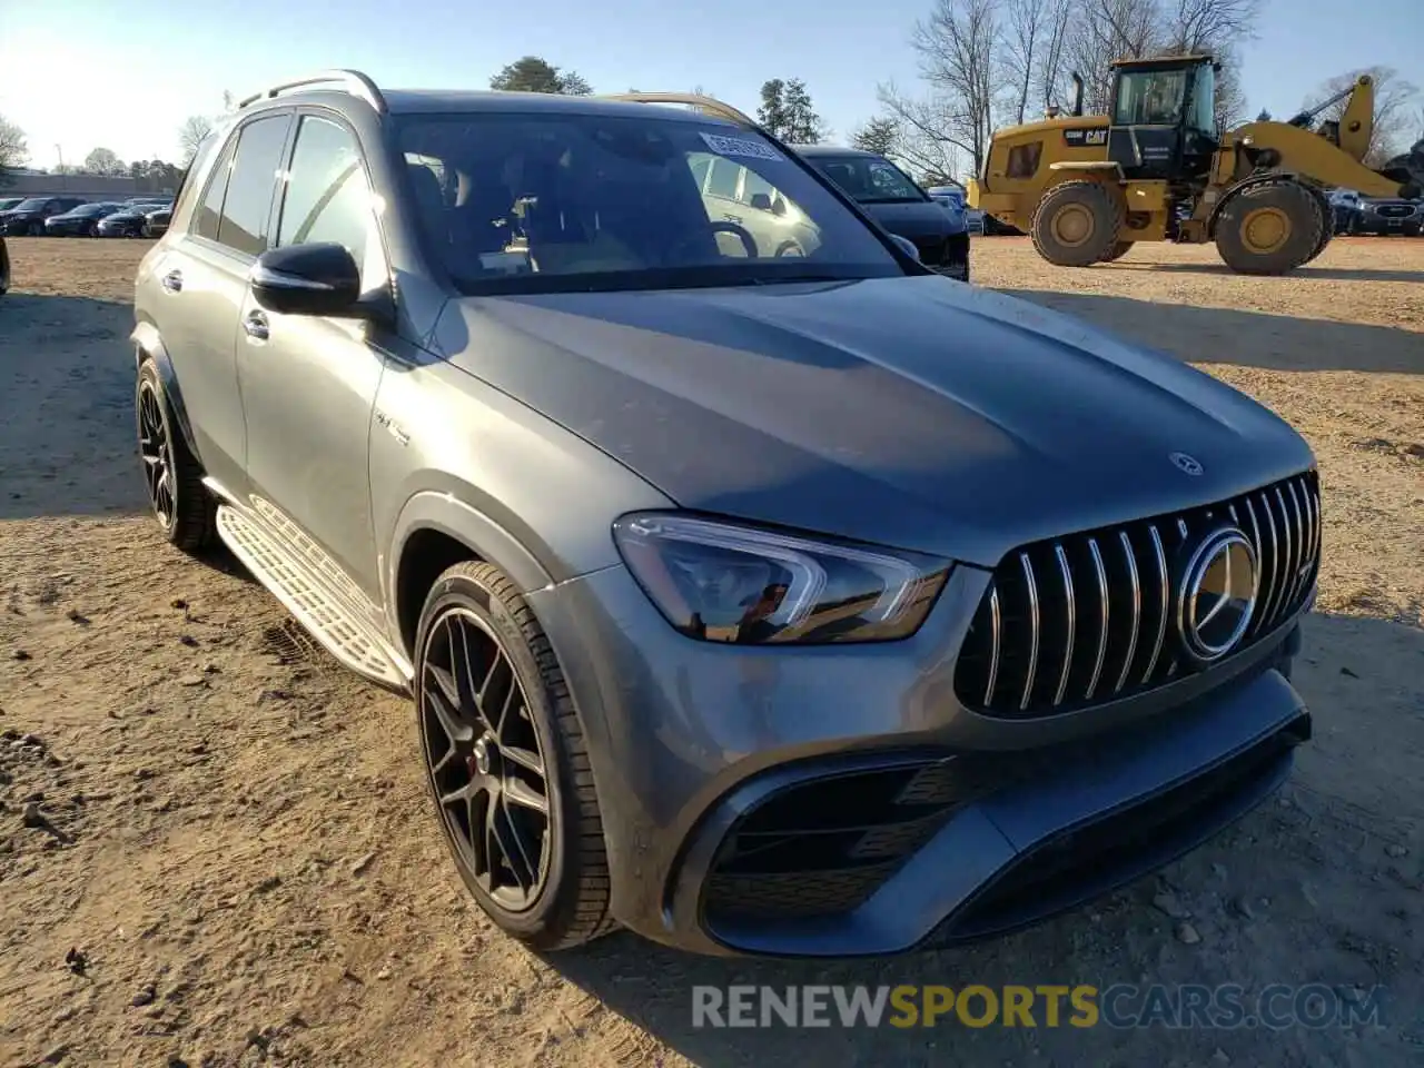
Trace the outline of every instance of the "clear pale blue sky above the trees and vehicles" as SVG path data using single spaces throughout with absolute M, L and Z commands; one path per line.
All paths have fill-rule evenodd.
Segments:
M 876 112 L 876 83 L 916 81 L 907 40 L 930 0 L 0 0 L 0 115 L 30 162 L 95 145 L 178 155 L 177 128 L 319 67 L 390 87 L 486 88 L 527 53 L 595 91 L 701 85 L 755 111 L 772 77 L 805 78 L 837 138 Z M 1247 107 L 1297 108 L 1323 78 L 1396 67 L 1424 90 L 1424 0 L 1265 0 L 1245 47 Z M 1424 101 L 1424 95 L 1420 97 Z

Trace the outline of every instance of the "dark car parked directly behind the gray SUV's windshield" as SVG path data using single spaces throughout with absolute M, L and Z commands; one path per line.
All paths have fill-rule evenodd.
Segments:
M 933 199 L 883 155 L 834 145 L 796 145 L 796 151 L 870 218 L 913 242 L 927 268 L 970 281 L 970 232 L 963 209 Z

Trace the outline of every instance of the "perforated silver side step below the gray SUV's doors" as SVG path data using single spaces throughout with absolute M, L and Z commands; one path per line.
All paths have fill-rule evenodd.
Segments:
M 231 504 L 218 506 L 218 534 L 328 652 L 352 671 L 393 689 L 407 689 L 410 669 L 326 584 L 293 560 L 261 523 Z

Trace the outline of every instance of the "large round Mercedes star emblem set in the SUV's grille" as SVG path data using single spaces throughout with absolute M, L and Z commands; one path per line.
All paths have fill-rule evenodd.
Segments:
M 1236 527 L 1208 534 L 1186 561 L 1178 598 L 1182 645 L 1199 664 L 1240 642 L 1256 608 L 1256 550 Z

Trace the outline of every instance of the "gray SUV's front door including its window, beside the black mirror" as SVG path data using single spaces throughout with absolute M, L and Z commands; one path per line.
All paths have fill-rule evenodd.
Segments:
M 366 288 L 384 286 L 386 259 L 355 132 L 335 118 L 302 114 L 272 245 L 332 241 L 362 266 Z M 281 315 L 251 289 L 238 323 L 238 380 L 248 430 L 253 506 L 316 543 L 309 564 L 335 561 L 372 601 L 379 597 L 367 447 L 383 357 L 357 319 Z M 276 511 L 273 511 L 273 508 Z

